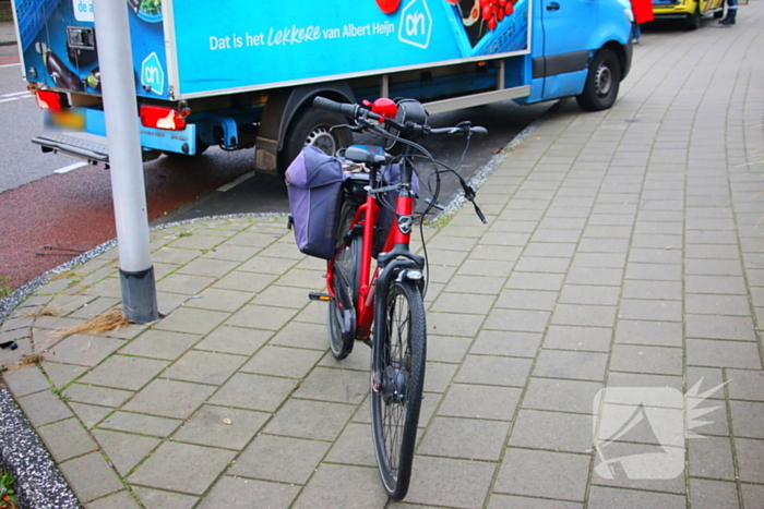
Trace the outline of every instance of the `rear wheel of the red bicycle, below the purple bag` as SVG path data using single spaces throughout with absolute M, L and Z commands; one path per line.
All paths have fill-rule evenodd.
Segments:
M 356 341 L 355 327 L 344 334 L 342 330 L 342 293 L 347 295 L 351 306 L 355 305 L 360 284 L 361 247 L 361 237 L 354 235 L 350 245 L 343 244 L 334 256 L 334 300 L 329 303 L 329 346 L 332 355 L 338 361 L 353 352 Z M 339 284 L 345 288 L 339 288 Z M 355 314 L 353 319 L 355 320 Z

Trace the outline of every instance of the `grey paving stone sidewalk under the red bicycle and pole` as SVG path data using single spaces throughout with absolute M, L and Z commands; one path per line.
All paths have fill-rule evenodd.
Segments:
M 733 28 L 645 34 L 612 109 L 563 105 L 488 179 L 487 226 L 465 208 L 427 230 L 406 504 L 375 469 L 369 349 L 329 353 L 307 300 L 324 266 L 284 218 L 154 231 L 166 316 L 147 326 L 52 339 L 120 302 L 116 250 L 59 274 L 0 327 L 20 344 L 0 363 L 43 356 L 3 379 L 93 509 L 764 507 L 763 50 L 760 0 Z M 689 392 L 705 438 L 656 404 L 593 451 L 606 387 Z M 605 408 L 632 413 L 623 393 Z M 679 471 L 630 475 L 648 453 Z

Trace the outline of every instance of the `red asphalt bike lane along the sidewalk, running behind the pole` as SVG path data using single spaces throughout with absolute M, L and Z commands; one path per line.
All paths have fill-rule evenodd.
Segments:
M 148 220 L 251 169 L 211 161 L 163 157 L 144 165 Z M 88 166 L 0 193 L 0 277 L 9 278 L 0 287 L 16 289 L 116 237 L 110 173 Z

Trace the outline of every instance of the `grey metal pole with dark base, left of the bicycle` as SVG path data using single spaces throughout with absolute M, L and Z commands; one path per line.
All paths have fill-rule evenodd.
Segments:
M 130 322 L 153 322 L 159 313 L 148 244 L 128 4 L 94 0 L 93 7 L 119 244 L 122 310 Z

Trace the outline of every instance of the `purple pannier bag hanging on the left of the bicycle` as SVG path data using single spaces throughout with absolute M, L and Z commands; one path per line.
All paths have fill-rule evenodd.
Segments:
M 343 166 L 336 157 L 307 146 L 286 171 L 295 240 L 301 253 L 334 256 L 342 205 Z

